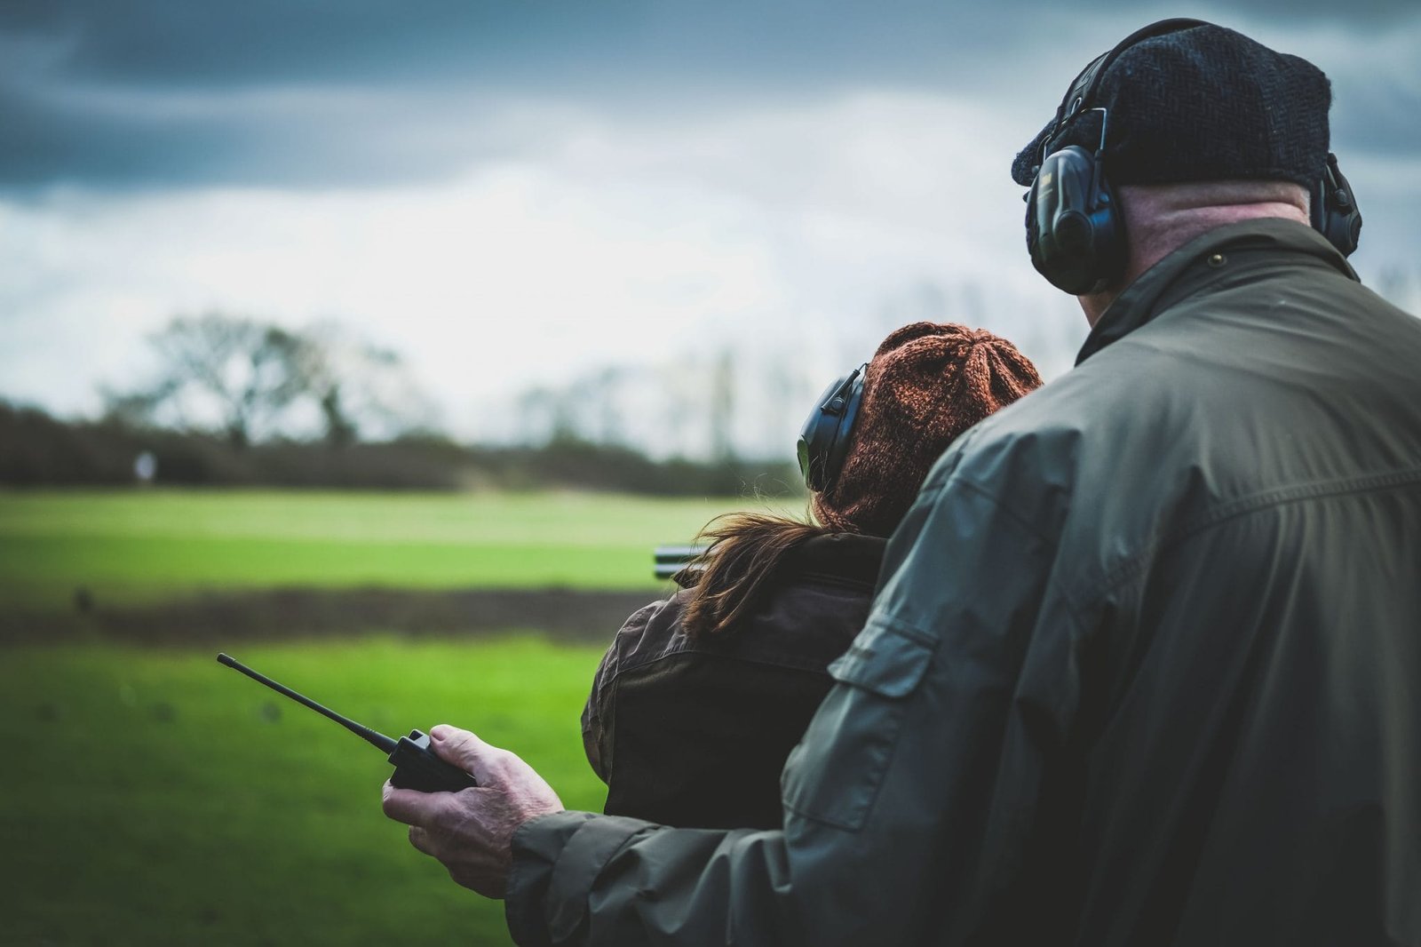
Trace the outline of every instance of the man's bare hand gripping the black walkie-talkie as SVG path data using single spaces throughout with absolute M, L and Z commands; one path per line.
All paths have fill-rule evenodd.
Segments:
M 409 843 L 449 869 L 449 877 L 486 897 L 503 897 L 513 863 L 513 833 L 529 819 L 561 812 L 543 776 L 514 754 L 466 729 L 441 724 L 429 745 L 473 774 L 479 785 L 459 792 L 395 789 L 385 782 L 385 815 L 409 826 Z

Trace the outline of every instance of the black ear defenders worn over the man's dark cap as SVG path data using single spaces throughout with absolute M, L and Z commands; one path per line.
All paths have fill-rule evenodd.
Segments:
M 1135 30 L 1113 50 L 1096 57 L 1066 91 L 1056 109 L 1056 128 L 1042 144 L 1036 179 L 1025 196 L 1026 245 L 1032 264 L 1057 289 L 1073 296 L 1098 293 L 1118 280 L 1125 269 L 1124 222 L 1103 173 L 1110 111 L 1094 105 L 1106 70 L 1137 43 L 1199 26 L 1209 24 L 1171 18 Z M 1053 151 L 1052 142 L 1086 112 L 1100 112 L 1096 152 L 1080 145 Z M 1331 154 L 1313 186 L 1312 222 L 1343 256 L 1357 249 L 1361 213 Z

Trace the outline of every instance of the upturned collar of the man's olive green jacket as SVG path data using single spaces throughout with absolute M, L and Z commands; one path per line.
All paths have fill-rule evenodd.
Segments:
M 1209 260 L 1216 253 L 1223 253 L 1223 259 L 1236 259 L 1241 253 L 1259 252 L 1302 253 L 1323 260 L 1347 279 L 1357 279 L 1356 270 L 1323 235 L 1296 220 L 1265 218 L 1228 223 L 1194 237 L 1127 286 L 1090 330 L 1076 364 L 1214 282 L 1218 273 Z

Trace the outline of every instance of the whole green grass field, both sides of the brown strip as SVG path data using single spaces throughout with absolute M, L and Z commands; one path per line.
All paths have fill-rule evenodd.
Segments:
M 605 495 L 0 493 L 0 617 L 203 590 L 662 589 L 651 549 L 752 501 Z M 354 631 L 354 628 L 352 628 Z M 601 647 L 536 630 L 226 644 L 385 734 L 452 722 L 570 808 Z M 610 630 L 608 630 L 610 634 Z M 382 755 L 190 647 L 0 643 L 0 944 L 507 944 L 384 818 Z

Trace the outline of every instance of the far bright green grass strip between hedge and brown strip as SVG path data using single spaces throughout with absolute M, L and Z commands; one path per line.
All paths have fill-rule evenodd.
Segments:
M 0 603 L 202 589 L 648 589 L 651 550 L 755 501 L 591 493 L 0 493 Z M 790 502 L 793 509 L 793 502 Z

